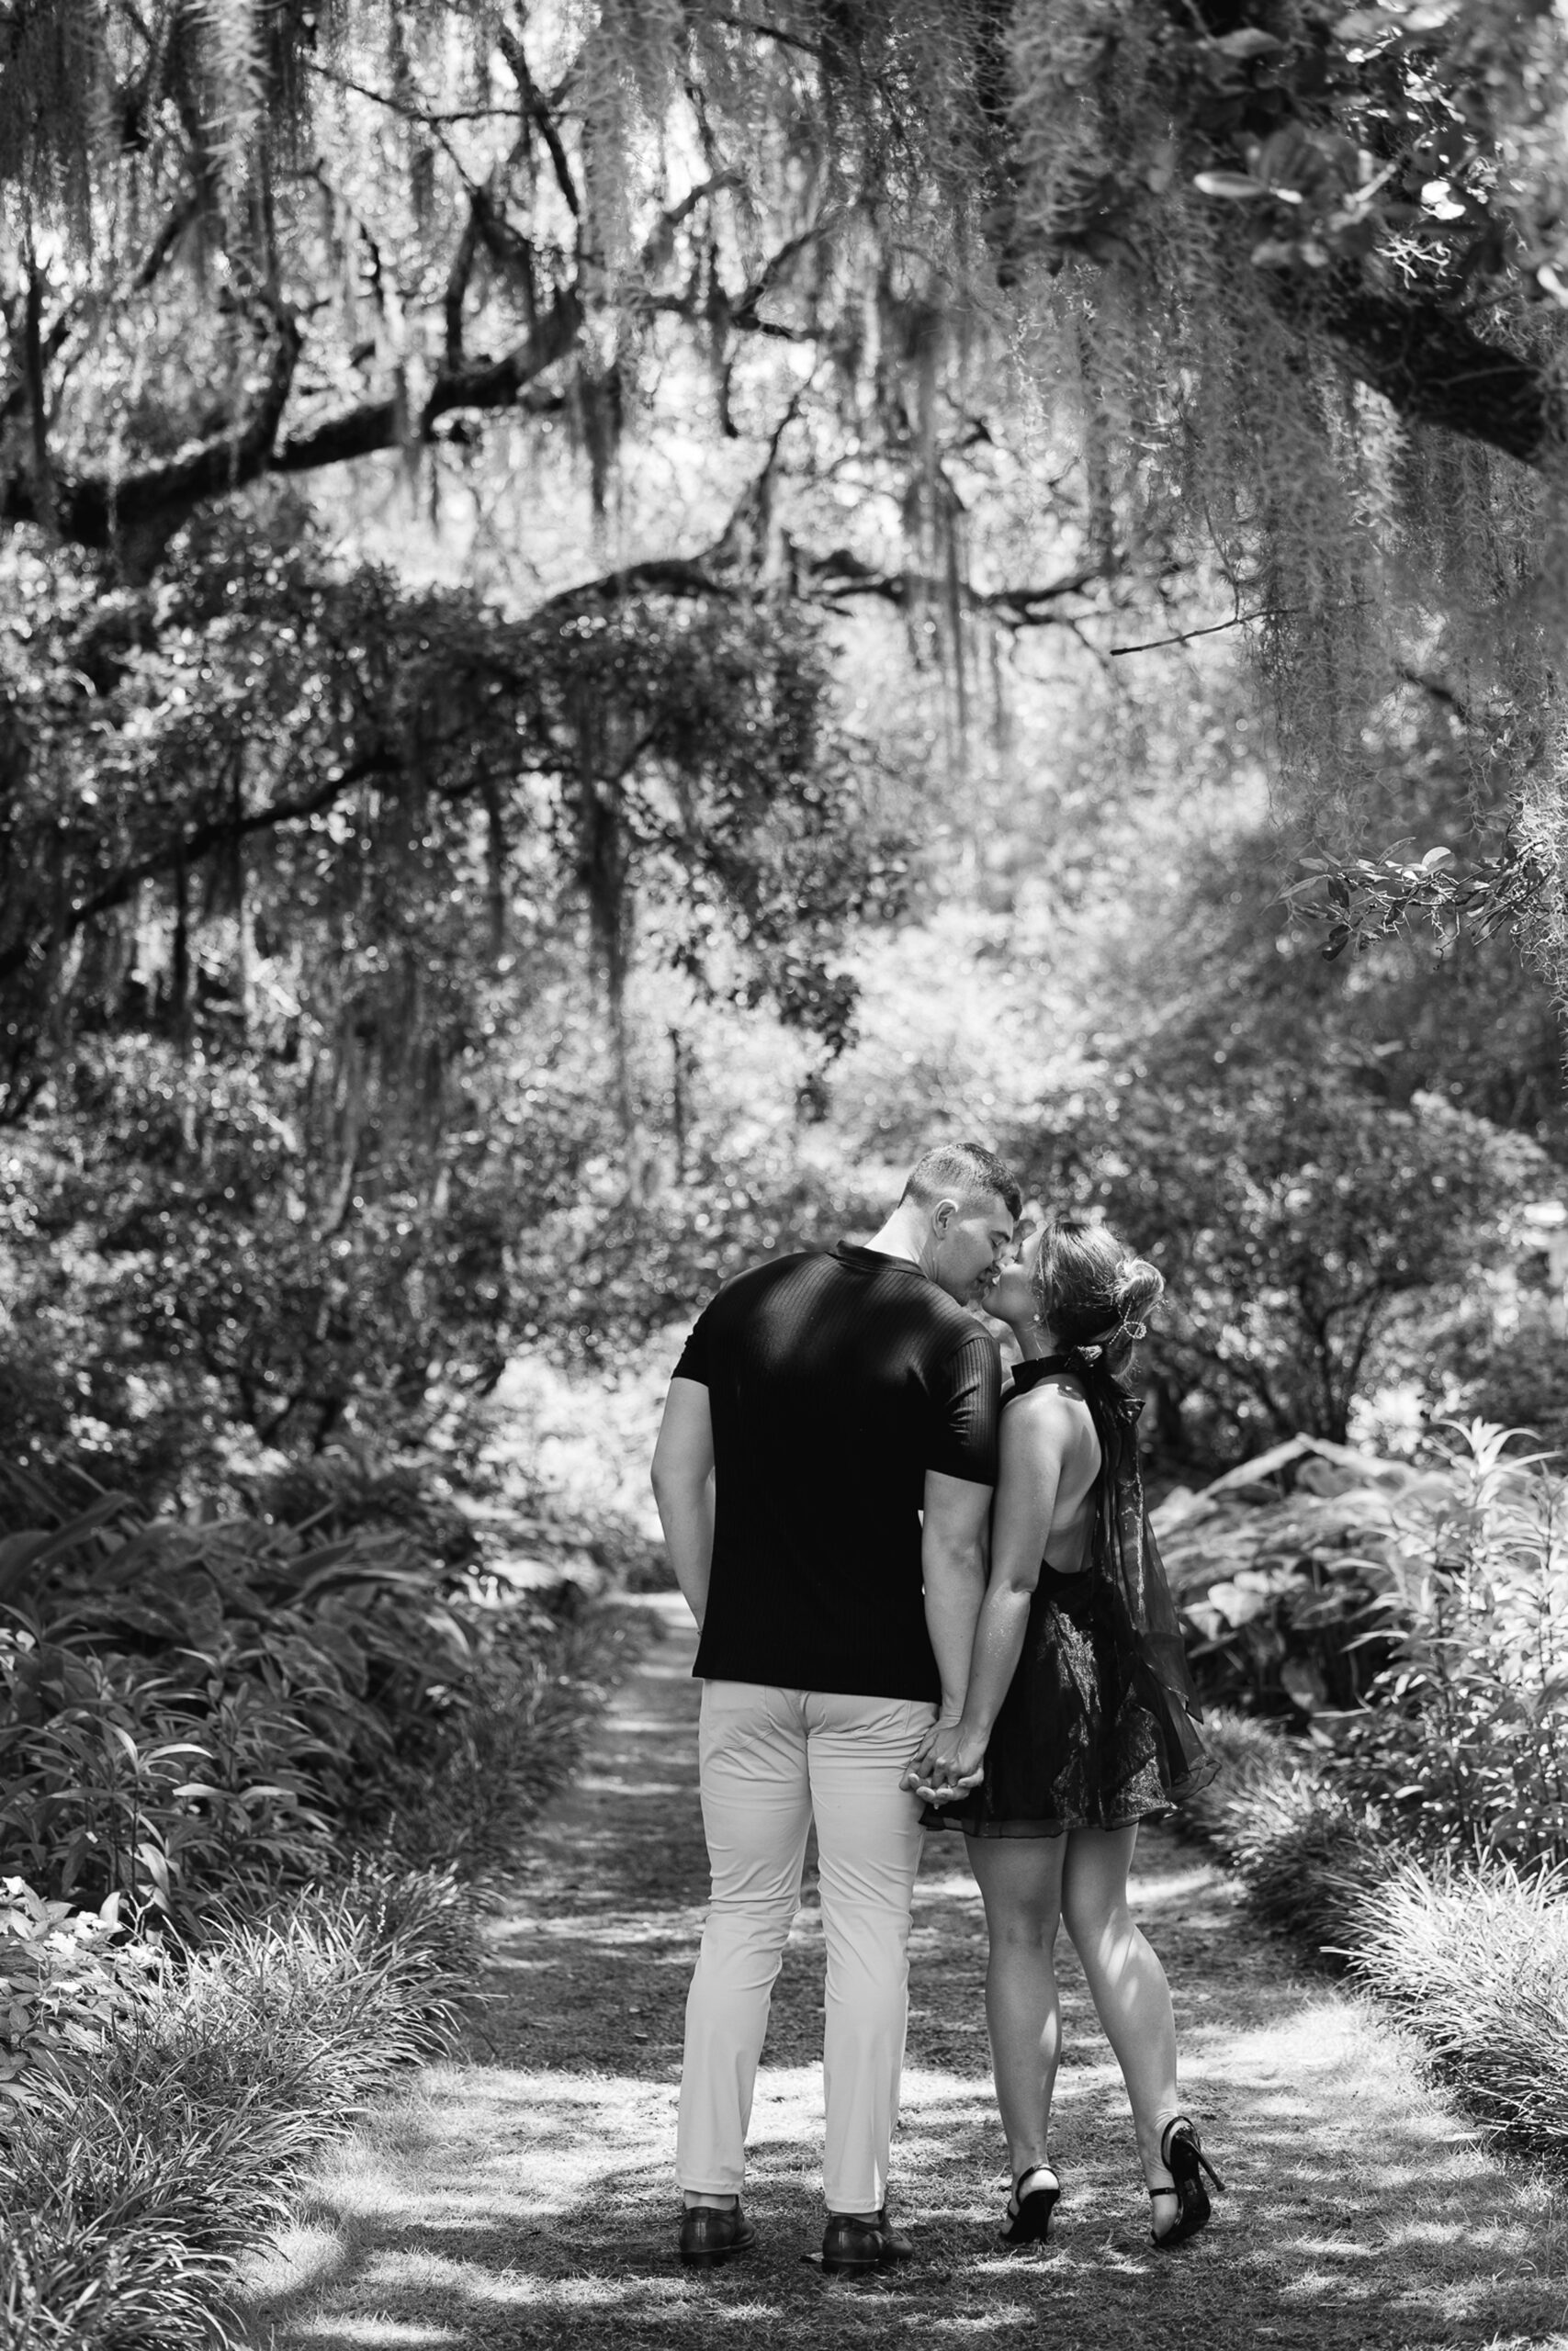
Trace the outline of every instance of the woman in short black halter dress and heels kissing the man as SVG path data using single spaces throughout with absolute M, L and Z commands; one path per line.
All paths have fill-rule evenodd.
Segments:
M 1124 1385 L 1161 1288 L 1103 1225 L 1058 1218 L 987 1300 L 1023 1347 L 1001 1413 L 990 1585 L 964 1714 L 910 1768 L 926 1827 L 964 1829 L 985 1900 L 1011 2245 L 1044 2238 L 1060 2193 L 1046 2154 L 1058 1921 L 1126 2081 L 1154 2243 L 1180 2245 L 1208 2219 L 1201 2170 L 1220 2186 L 1178 2099 L 1171 1987 L 1126 1897 L 1138 1822 L 1215 1770 Z

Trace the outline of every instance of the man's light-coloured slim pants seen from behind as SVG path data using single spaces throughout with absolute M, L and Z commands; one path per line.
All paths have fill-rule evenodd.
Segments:
M 879 2212 L 907 2024 L 919 1799 L 898 1775 L 936 1721 L 905 1697 L 705 1681 L 698 1737 L 712 1904 L 686 1998 L 675 2175 L 738 2196 L 773 1980 L 816 1817 L 827 1944 L 823 2191 Z

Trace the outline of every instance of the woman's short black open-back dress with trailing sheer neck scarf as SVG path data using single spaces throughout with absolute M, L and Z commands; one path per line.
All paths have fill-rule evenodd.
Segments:
M 1180 1627 L 1143 1509 L 1138 1406 L 1063 1357 L 1020 1364 L 1013 1394 L 1053 1371 L 1081 1380 L 1100 1436 L 1088 1561 L 1072 1575 L 1041 1566 L 985 1777 L 957 1803 L 929 1803 L 926 1829 L 1126 1829 L 1164 1817 L 1215 1773 L 1197 1735 Z

